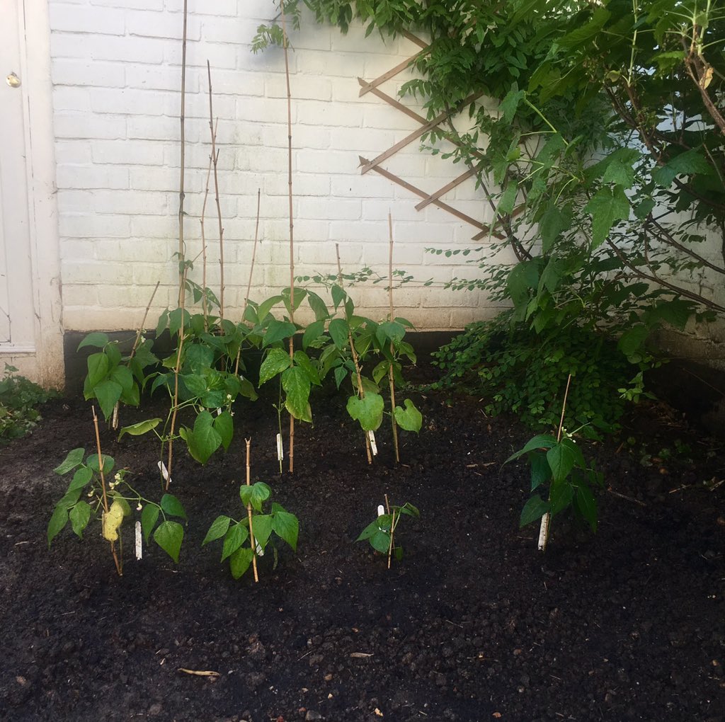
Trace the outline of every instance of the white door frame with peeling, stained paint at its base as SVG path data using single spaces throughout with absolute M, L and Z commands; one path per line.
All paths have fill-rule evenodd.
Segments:
M 34 349 L 0 346 L 2 361 L 46 387 L 65 383 L 58 212 L 55 185 L 53 86 L 48 0 L 17 4 L 20 80 L 25 115 L 25 183 L 33 284 Z M 12 69 L 2 69 L 2 80 Z

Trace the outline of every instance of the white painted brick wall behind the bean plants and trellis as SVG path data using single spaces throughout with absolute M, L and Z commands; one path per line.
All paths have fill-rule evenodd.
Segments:
M 179 107 L 183 0 L 50 0 L 54 128 L 64 321 L 67 329 L 133 328 L 157 281 L 153 314 L 175 301 L 171 259 L 178 241 Z M 280 49 L 249 49 L 273 0 L 189 0 L 186 77 L 186 239 L 200 251 L 199 214 L 210 153 L 207 59 L 218 116 L 221 204 L 225 227 L 226 299 L 244 301 L 254 236 L 257 188 L 260 238 L 252 296 L 289 283 L 286 80 Z M 468 247 L 476 229 L 434 206 L 415 210 L 418 196 L 374 172 L 360 175 L 358 156 L 376 157 L 419 126 L 372 94 L 359 96 L 357 77 L 372 80 L 417 51 L 406 41 L 347 36 L 302 18 L 291 33 L 294 120 L 294 212 L 297 273 L 336 270 L 339 243 L 345 270 L 369 265 L 387 273 L 387 214 L 394 217 L 395 266 L 422 283 L 397 292 L 400 315 L 422 329 L 460 328 L 490 315 L 483 294 L 440 287 L 470 277 L 460 257 L 426 246 Z M 395 96 L 410 75 L 381 89 Z M 410 104 L 410 101 L 406 101 Z M 420 107 L 416 111 L 423 114 Z M 426 192 L 463 172 L 418 152 L 420 141 L 384 162 Z M 444 201 L 486 220 L 489 209 L 473 181 Z M 210 283 L 218 282 L 213 190 L 207 202 Z M 201 280 L 197 262 L 196 280 Z M 361 310 L 384 315 L 381 286 L 355 289 Z

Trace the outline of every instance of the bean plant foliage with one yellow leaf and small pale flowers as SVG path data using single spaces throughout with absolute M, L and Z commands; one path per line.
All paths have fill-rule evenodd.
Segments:
M 102 462 L 103 473 L 107 478 L 106 495 L 110 502 L 108 513 L 104 512 L 101 462 L 97 454 L 86 457 L 83 447 L 72 449 L 65 460 L 54 468 L 59 476 L 65 476 L 71 471 L 74 473 L 51 515 L 47 532 L 48 546 L 69 521 L 73 533 L 83 539 L 83 531 L 88 523 L 92 518 L 98 518 L 99 514 L 104 538 L 115 542 L 119 538 L 123 520 L 133 518 L 131 507 L 134 507 L 136 511 L 141 511 L 141 528 L 146 542 L 153 532 L 154 541 L 178 563 L 183 526 L 176 519 L 186 520 L 181 502 L 173 494 L 164 494 L 159 503 L 145 499 L 128 483 L 126 470 L 113 474 L 113 457 L 104 454 Z

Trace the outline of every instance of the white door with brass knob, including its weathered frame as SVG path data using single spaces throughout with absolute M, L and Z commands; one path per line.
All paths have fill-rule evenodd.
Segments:
M 7 362 L 62 386 L 47 9 L 42 0 L 2 5 L 0 375 Z

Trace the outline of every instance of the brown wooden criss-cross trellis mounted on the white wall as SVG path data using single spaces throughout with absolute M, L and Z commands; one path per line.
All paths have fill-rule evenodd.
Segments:
M 421 50 L 418 51 L 415 55 L 411 56 L 407 60 L 399 63 L 399 65 L 396 65 L 395 67 L 391 68 L 387 72 L 384 72 L 383 75 L 380 75 L 375 80 L 370 80 L 369 82 L 367 80 L 364 80 L 363 78 L 357 78 L 357 82 L 360 83 L 360 96 L 363 96 L 367 93 L 372 93 L 374 96 L 380 98 L 381 100 L 385 101 L 387 104 L 389 104 L 391 107 L 394 107 L 395 109 L 399 110 L 402 113 L 405 113 L 408 117 L 413 118 L 413 120 L 418 121 L 418 123 L 421 124 L 421 128 L 418 128 L 417 130 L 414 130 L 413 133 L 410 133 L 410 135 L 405 136 L 405 138 L 402 139 L 402 141 L 398 141 L 394 146 L 391 146 L 386 151 L 379 154 L 377 157 L 373 158 L 372 160 L 368 160 L 366 158 L 363 158 L 360 156 L 360 173 L 368 173 L 369 170 L 374 170 L 376 173 L 379 173 L 384 178 L 387 178 L 389 181 L 392 181 L 393 183 L 397 183 L 399 186 L 402 186 L 407 191 L 410 191 L 411 193 L 415 194 L 416 196 L 420 196 L 423 200 L 418 203 L 415 206 L 416 210 L 422 210 L 425 208 L 428 204 L 434 204 L 436 207 L 450 213 L 451 215 L 454 215 L 455 217 L 459 218 L 460 220 L 465 221 L 465 223 L 470 223 L 473 225 L 474 228 L 479 229 L 479 233 L 476 233 L 475 236 L 473 236 L 473 241 L 479 241 L 481 238 L 484 238 L 486 236 L 494 236 L 495 238 L 505 238 L 505 236 L 502 236 L 501 233 L 497 233 L 497 231 L 493 230 L 493 225 L 495 225 L 495 222 L 493 225 L 485 225 L 484 223 L 481 223 L 481 221 L 476 220 L 475 218 L 471 217 L 470 215 L 450 206 L 447 203 L 444 203 L 440 200 L 442 196 L 447 194 L 448 191 L 452 191 L 453 188 L 456 186 L 459 186 L 460 183 L 463 183 L 463 181 L 468 180 L 468 178 L 471 178 L 471 176 L 476 175 L 476 173 L 479 170 L 479 167 L 471 167 L 468 170 L 465 171 L 465 173 L 462 173 L 457 178 L 454 178 L 450 183 L 447 183 L 442 188 L 439 188 L 437 191 L 434 191 L 434 193 L 427 193 L 426 191 L 423 191 L 421 188 L 416 188 L 411 183 L 408 183 L 407 181 L 404 181 L 402 178 L 399 178 L 399 176 L 394 175 L 394 173 L 391 173 L 389 170 L 384 169 L 381 167 L 381 163 L 384 162 L 386 159 L 389 159 L 390 157 L 394 156 L 400 149 L 405 148 L 405 146 L 410 145 L 413 143 L 413 141 L 417 140 L 421 136 L 425 135 L 425 133 L 429 133 L 431 130 L 439 126 L 441 123 L 443 123 L 445 120 L 448 120 L 452 115 L 455 115 L 455 112 L 458 112 L 456 110 L 455 112 L 444 112 L 435 117 L 433 120 L 428 120 L 427 118 L 423 117 L 419 113 L 415 112 L 413 109 L 410 109 L 406 107 L 404 104 L 402 104 L 399 100 L 392 98 L 388 94 L 381 91 L 381 89 L 378 86 L 381 86 L 382 83 L 385 83 L 386 80 L 390 80 L 391 78 L 394 78 L 396 75 L 399 74 L 399 72 L 402 72 L 407 67 L 410 66 L 411 62 L 413 62 L 415 59 L 418 59 L 418 57 L 421 57 L 422 55 L 426 54 L 428 52 L 428 43 L 425 41 L 422 41 L 421 38 L 418 38 L 414 36 L 412 33 L 408 33 L 405 31 L 403 35 L 410 40 L 411 42 L 418 45 Z M 471 96 L 468 96 L 461 104 L 460 107 L 465 107 L 468 104 L 471 104 L 473 101 L 476 101 L 481 96 L 481 94 L 472 94 Z M 458 145 L 458 141 L 455 138 L 448 138 L 453 144 Z

